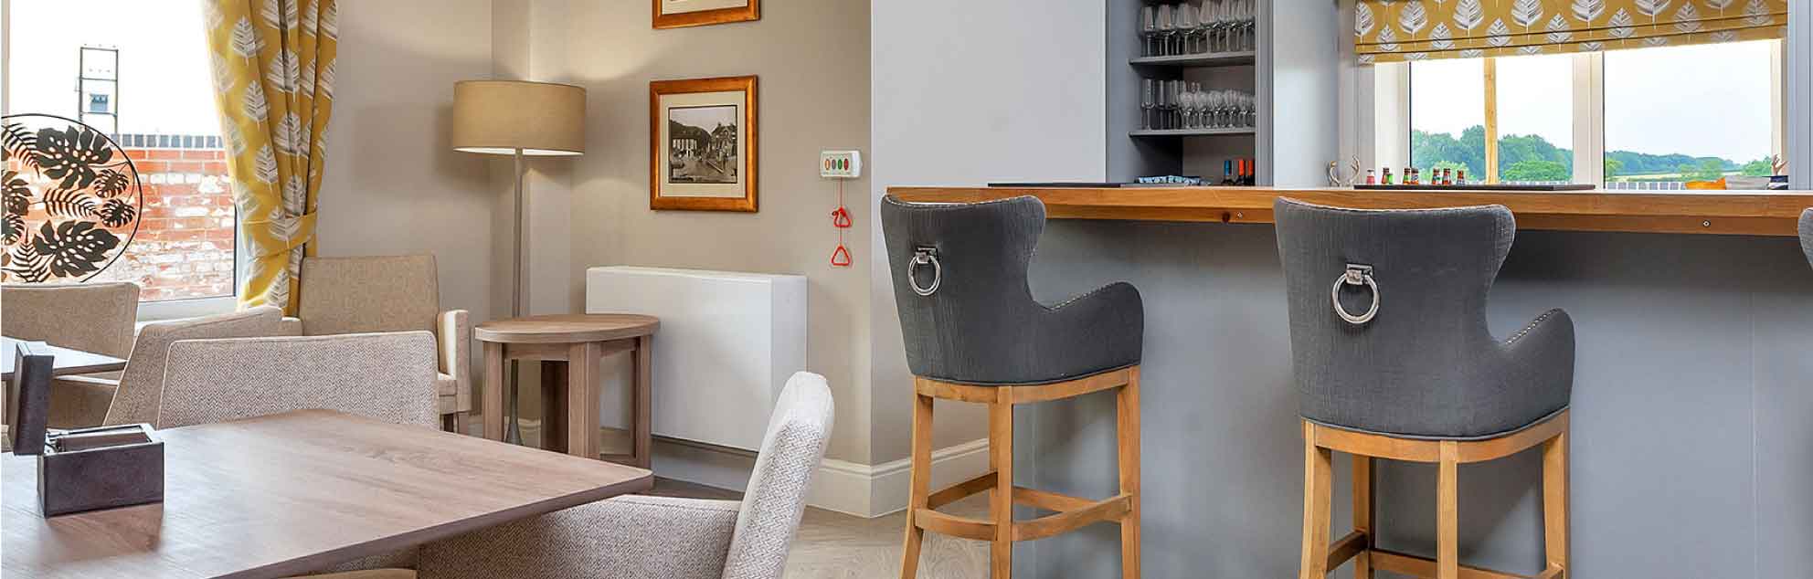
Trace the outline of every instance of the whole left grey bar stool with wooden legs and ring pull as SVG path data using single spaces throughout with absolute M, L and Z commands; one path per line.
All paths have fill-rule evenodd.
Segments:
M 937 532 L 992 541 L 994 577 L 1013 574 L 1013 541 L 1090 523 L 1120 525 L 1120 568 L 1139 577 L 1139 360 L 1144 309 L 1129 284 L 1108 284 L 1057 306 L 1026 286 L 1044 204 L 1013 197 L 975 204 L 881 201 L 906 365 L 914 373 L 912 492 L 901 577 L 916 577 L 919 541 Z M 1117 391 L 1120 492 L 1100 501 L 1013 487 L 1013 405 Z M 930 492 L 932 400 L 988 405 L 994 472 Z M 936 508 L 983 490 L 990 521 Z M 1013 505 L 1059 514 L 1013 521 Z

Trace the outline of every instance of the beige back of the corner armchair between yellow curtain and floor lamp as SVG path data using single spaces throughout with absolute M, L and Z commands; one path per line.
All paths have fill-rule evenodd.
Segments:
M 303 279 L 303 335 L 433 331 L 441 315 L 433 255 L 305 257 Z

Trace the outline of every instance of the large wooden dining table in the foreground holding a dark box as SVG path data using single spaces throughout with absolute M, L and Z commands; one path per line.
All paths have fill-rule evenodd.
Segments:
M 38 514 L 0 456 L 5 577 L 285 577 L 647 490 L 644 469 L 335 411 L 160 431 L 163 503 Z

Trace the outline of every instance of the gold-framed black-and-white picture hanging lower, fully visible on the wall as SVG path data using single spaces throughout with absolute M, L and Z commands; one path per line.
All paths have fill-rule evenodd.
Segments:
M 756 78 L 649 83 L 649 208 L 756 212 Z

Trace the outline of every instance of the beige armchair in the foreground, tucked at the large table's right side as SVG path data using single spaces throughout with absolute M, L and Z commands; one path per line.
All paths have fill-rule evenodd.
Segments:
M 421 577 L 780 579 L 830 441 L 825 378 L 796 373 L 742 501 L 624 496 L 422 546 Z

